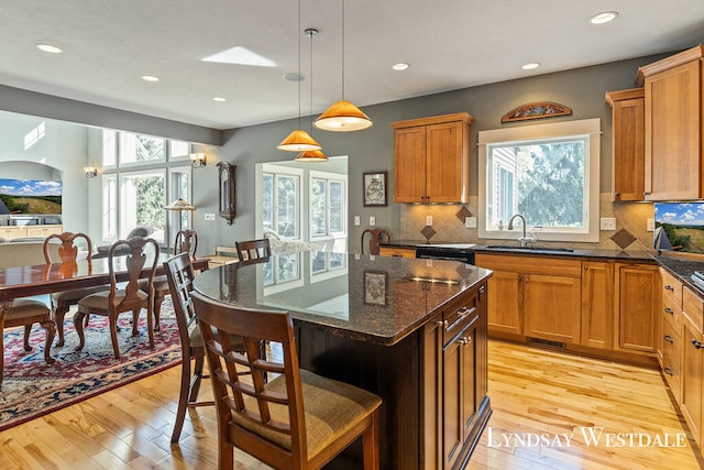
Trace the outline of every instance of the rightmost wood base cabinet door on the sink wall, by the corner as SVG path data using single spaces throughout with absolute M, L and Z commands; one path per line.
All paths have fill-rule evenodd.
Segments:
M 661 305 L 658 267 L 618 264 L 616 269 L 616 349 L 654 354 L 654 315 Z

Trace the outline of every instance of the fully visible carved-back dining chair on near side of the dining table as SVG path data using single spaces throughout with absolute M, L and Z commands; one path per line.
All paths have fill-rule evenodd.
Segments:
M 123 247 L 129 247 L 129 253 L 117 254 Z M 146 249 L 153 247 L 153 253 L 147 255 Z M 80 351 L 86 345 L 84 334 L 84 317 L 86 315 L 101 315 L 108 317 L 110 325 L 110 337 L 116 359 L 120 359 L 120 348 L 118 346 L 118 316 L 124 311 L 132 311 L 132 335 L 138 336 L 138 320 L 140 310 L 146 308 L 146 324 L 150 338 L 150 347 L 154 349 L 154 331 L 152 321 L 154 295 L 154 272 L 158 262 L 158 243 L 152 238 L 133 237 L 129 240 L 118 240 L 108 251 L 108 269 L 110 273 L 110 289 L 90 294 L 78 300 L 78 311 L 74 315 L 74 326 L 78 334 L 79 345 L 76 351 Z M 127 285 L 118 288 L 118 276 L 116 264 L 119 260 L 124 260 L 129 280 Z M 147 262 L 148 260 L 148 262 Z M 148 280 L 144 292 L 139 287 L 139 278 L 143 270 L 148 270 Z

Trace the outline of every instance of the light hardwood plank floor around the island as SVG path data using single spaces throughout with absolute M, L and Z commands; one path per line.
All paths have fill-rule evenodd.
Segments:
M 179 445 L 170 446 L 179 371 L 0 433 L 0 469 L 215 468 L 213 408 L 190 411 Z M 208 383 L 202 392 L 210 395 Z M 651 438 L 685 433 L 657 371 L 490 341 L 490 396 L 494 414 L 471 469 L 701 468 L 689 440 L 683 448 L 607 446 L 607 433 Z M 585 445 L 582 427 L 603 427 L 600 445 Z M 574 437 L 571 447 L 503 447 L 504 437 L 515 444 L 510 433 Z M 268 468 L 243 452 L 235 456 L 240 470 Z

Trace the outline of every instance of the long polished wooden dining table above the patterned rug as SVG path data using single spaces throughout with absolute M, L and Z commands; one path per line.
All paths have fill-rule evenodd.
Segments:
M 151 265 L 152 254 L 147 254 L 145 266 Z M 170 253 L 160 253 L 155 275 L 165 274 L 163 262 L 172 256 Z M 114 258 L 114 272 L 118 282 L 129 280 L 127 256 Z M 207 271 L 208 258 L 194 258 L 196 270 Z M 147 277 L 148 269 L 142 271 L 141 276 Z M 73 263 L 46 263 L 28 266 L 12 266 L 0 269 L 0 332 L 4 330 L 4 319 L 12 303 L 16 298 L 44 294 L 54 294 L 74 288 L 94 287 L 110 284 L 109 259 L 84 259 Z M 0 348 L 0 385 L 2 384 L 2 369 L 4 351 Z

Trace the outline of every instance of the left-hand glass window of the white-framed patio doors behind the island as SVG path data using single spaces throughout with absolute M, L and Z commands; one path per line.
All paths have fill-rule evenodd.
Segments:
M 264 165 L 262 174 L 262 221 L 265 230 L 282 238 L 300 238 L 300 172 Z

